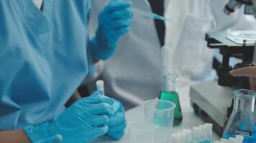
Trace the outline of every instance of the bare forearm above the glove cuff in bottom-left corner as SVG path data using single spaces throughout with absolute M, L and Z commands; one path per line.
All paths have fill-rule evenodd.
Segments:
M 30 143 L 29 138 L 22 130 L 0 132 L 1 143 L 22 142 Z

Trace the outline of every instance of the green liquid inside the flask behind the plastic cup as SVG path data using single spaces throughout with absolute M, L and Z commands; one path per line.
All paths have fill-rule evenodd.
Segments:
M 176 104 L 174 112 L 173 126 L 178 126 L 182 122 L 182 112 L 180 108 L 180 100 L 177 92 L 161 92 L 159 99 L 167 100 Z

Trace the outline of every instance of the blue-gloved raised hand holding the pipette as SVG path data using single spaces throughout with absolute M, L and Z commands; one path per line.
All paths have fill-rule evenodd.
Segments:
M 122 34 L 129 31 L 132 23 L 131 1 L 114 0 L 99 14 L 99 27 L 92 39 L 93 57 L 108 59 L 116 50 L 117 41 Z

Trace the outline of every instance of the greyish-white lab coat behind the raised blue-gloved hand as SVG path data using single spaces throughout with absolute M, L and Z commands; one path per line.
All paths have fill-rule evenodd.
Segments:
M 147 0 L 132 0 L 133 6 L 152 11 Z M 90 33 L 94 33 L 97 15 L 105 0 L 93 0 Z M 105 94 L 119 99 L 126 109 L 156 98 L 161 91 L 161 54 L 153 19 L 134 14 L 129 34 L 122 36 L 116 53 L 104 61 Z M 99 65 L 98 65 L 99 66 Z M 94 88 L 91 89 L 95 90 Z

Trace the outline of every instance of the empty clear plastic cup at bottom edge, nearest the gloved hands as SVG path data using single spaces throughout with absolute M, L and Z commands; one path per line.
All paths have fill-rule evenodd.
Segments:
M 129 143 L 153 143 L 154 126 L 147 122 L 130 122 L 129 129 Z

